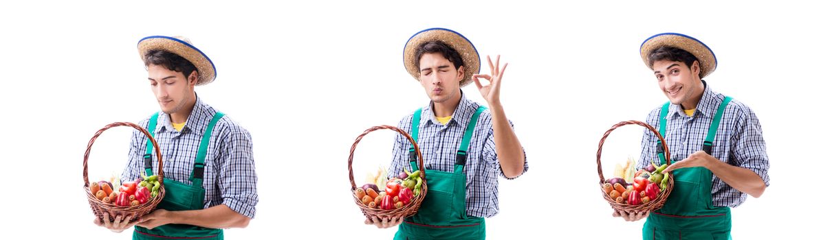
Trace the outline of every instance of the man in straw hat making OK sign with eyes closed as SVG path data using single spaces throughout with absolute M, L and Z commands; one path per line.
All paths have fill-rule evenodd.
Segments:
M 525 151 L 500 103 L 504 66 L 487 57 L 491 74 L 480 68 L 475 46 L 464 36 L 431 28 L 412 36 L 403 64 L 431 102 L 403 118 L 398 127 L 417 141 L 427 169 L 428 192 L 410 218 L 367 220 L 378 228 L 400 224 L 395 239 L 483 239 L 484 218 L 499 212 L 498 176 L 515 179 L 528 168 Z M 481 84 L 486 79 L 490 84 Z M 489 109 L 467 99 L 461 87 L 471 82 Z M 398 136 L 390 175 L 417 170 L 413 146 Z

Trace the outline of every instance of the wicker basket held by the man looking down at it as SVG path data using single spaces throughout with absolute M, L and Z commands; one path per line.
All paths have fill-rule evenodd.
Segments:
M 92 144 L 95 142 L 95 139 L 98 138 L 98 136 L 100 136 L 101 133 L 105 130 L 110 129 L 112 127 L 120 126 L 133 127 L 144 133 L 144 135 L 146 135 L 147 137 L 149 137 L 150 142 L 153 143 L 153 146 L 155 148 L 156 156 L 158 156 L 159 158 L 159 194 L 157 194 L 156 197 L 150 199 L 144 204 L 138 204 L 135 206 L 128 207 L 118 206 L 115 204 L 105 204 L 104 202 L 101 202 L 100 200 L 96 199 L 94 194 L 90 193 L 90 180 L 87 175 L 87 162 L 90 158 L 90 150 L 92 149 Z M 115 216 L 117 215 L 121 215 L 122 219 L 130 219 L 130 222 L 134 222 L 141 218 L 141 216 L 144 216 L 144 214 L 148 214 L 150 211 L 155 209 L 156 205 L 158 205 L 161 202 L 161 199 L 164 198 L 164 170 L 162 169 L 163 166 L 161 160 L 161 151 L 159 151 L 159 144 L 156 143 L 155 139 L 151 137 L 150 133 L 147 132 L 147 130 L 144 130 L 143 127 L 139 127 L 138 125 L 135 125 L 131 122 L 113 122 L 105 126 L 104 128 L 101 128 L 100 130 L 98 130 L 98 132 L 95 132 L 95 136 L 92 136 L 92 139 L 90 139 L 90 143 L 86 146 L 86 152 L 84 153 L 84 191 L 86 192 L 86 199 L 88 199 L 90 202 L 90 208 L 92 209 L 92 212 L 95 214 L 96 217 L 98 217 L 101 220 L 104 219 L 104 213 L 109 213 L 110 222 L 114 221 Z M 113 189 L 117 190 L 118 187 L 119 186 L 114 185 Z

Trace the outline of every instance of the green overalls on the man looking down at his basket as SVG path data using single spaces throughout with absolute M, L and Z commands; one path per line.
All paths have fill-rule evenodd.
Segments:
M 223 113 L 217 112 L 213 115 L 210 123 L 207 124 L 202 142 L 199 143 L 198 153 L 196 155 L 196 162 L 193 165 L 193 170 L 190 173 L 190 180 L 193 185 L 185 185 L 182 182 L 164 179 L 164 199 L 159 203 L 158 209 L 165 209 L 168 211 L 182 211 L 182 210 L 200 210 L 204 209 L 205 189 L 202 186 L 204 175 L 205 156 L 207 156 L 207 144 L 210 142 L 213 127 L 219 118 L 224 116 Z M 148 130 L 150 136 L 154 135 L 156 122 L 158 121 L 159 113 L 155 113 L 150 118 Z M 153 145 L 147 140 L 147 152 L 144 154 L 144 170 L 147 175 L 153 175 L 152 164 Z M 216 228 L 202 228 L 186 224 L 167 224 L 153 229 L 142 228 L 135 226 L 133 232 L 133 239 L 222 239 L 222 229 Z

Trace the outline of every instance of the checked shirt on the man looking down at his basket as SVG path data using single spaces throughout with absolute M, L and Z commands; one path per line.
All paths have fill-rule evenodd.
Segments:
M 164 178 L 187 185 L 196 161 L 196 153 L 207 124 L 216 110 L 196 98 L 196 105 L 190 113 L 182 132 L 176 131 L 166 113 L 159 113 L 155 139 L 159 143 L 164 160 Z M 139 122 L 147 128 L 149 118 Z M 153 130 L 151 130 L 153 131 Z M 252 152 L 251 134 L 233 122 L 227 115 L 219 119 L 207 146 L 203 187 L 206 191 L 204 208 L 225 204 L 239 214 L 253 218 L 256 214 L 256 170 Z M 144 152 L 147 137 L 138 130 L 133 131 L 129 145 L 129 161 L 121 174 L 122 182 L 135 180 L 144 172 Z M 158 173 L 159 159 L 153 151 L 153 172 Z

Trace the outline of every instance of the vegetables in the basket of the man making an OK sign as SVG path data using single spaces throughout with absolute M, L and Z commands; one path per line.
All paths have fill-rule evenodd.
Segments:
M 388 180 L 382 170 L 378 170 L 378 175 L 369 175 L 368 180 L 373 183 L 354 190 L 354 196 L 370 209 L 400 209 L 421 193 L 421 170 L 412 173 L 403 170 L 400 175 Z M 378 181 L 381 179 L 384 182 Z M 383 186 L 383 189 L 378 189 L 378 186 Z

